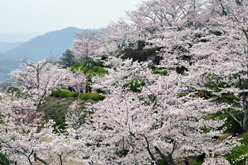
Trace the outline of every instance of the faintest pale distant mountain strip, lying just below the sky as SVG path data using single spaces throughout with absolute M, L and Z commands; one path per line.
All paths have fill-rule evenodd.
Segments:
M 28 41 L 39 33 L 0 33 L 0 42 L 24 42 Z

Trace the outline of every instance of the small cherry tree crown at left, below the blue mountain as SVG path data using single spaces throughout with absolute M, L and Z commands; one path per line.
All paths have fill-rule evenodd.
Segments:
M 12 72 L 11 77 L 14 86 L 26 93 L 37 107 L 44 102 L 52 89 L 63 84 L 63 80 L 69 73 L 68 70 L 52 64 L 50 60 L 43 60 L 38 63 L 23 62 L 23 64 L 23 70 Z

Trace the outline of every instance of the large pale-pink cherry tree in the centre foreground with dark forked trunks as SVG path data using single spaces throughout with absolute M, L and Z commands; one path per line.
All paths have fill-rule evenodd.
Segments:
M 223 106 L 196 99 L 191 96 L 193 92 L 179 97 L 189 90 L 185 82 L 191 76 L 175 71 L 169 76 L 154 75 L 131 60 L 108 73 L 102 81 L 95 79 L 94 86 L 110 89 L 107 97 L 92 107 L 100 148 L 104 150 L 98 159 L 127 164 L 159 164 L 162 159 L 176 164 L 179 158 L 187 162 L 190 156 L 225 154 L 237 145 L 232 138 L 216 144 L 213 138 L 221 137 L 223 131 L 218 128 L 224 122 L 204 120 Z M 146 82 L 141 93 L 131 92 L 127 85 L 133 76 Z

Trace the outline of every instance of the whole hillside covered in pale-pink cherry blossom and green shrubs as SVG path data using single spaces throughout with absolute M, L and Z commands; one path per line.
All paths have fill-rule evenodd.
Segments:
M 11 73 L 0 164 L 248 163 L 247 0 L 147 0 L 75 36 Z

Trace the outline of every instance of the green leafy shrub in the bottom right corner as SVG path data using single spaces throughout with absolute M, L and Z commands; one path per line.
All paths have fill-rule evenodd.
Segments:
M 248 154 L 248 132 L 246 132 L 242 138 L 243 139 L 240 140 L 242 145 L 233 148 L 231 153 L 225 155 L 225 158 L 233 165 L 245 164 L 248 159 L 248 156 L 244 156 L 245 154 Z M 240 159 L 242 156 L 244 156 L 244 158 Z

